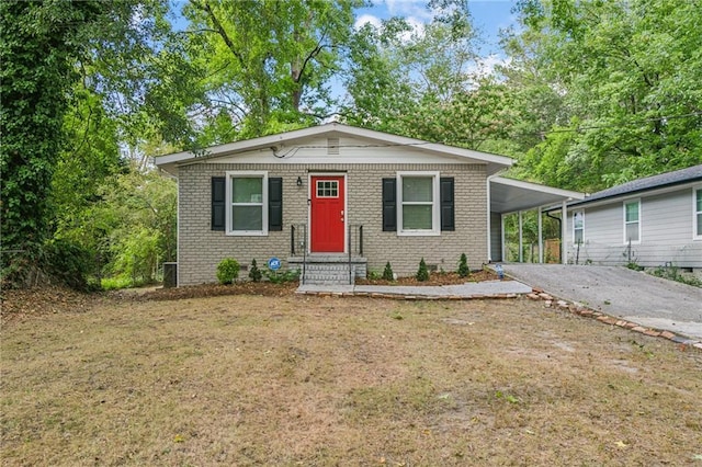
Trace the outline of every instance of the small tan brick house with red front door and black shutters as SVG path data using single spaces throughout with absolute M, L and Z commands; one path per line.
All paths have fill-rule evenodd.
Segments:
M 479 267 L 501 257 L 501 214 L 573 196 L 499 178 L 507 157 L 336 123 L 156 164 L 179 183 L 178 285 L 215 282 L 224 258 L 244 271 L 279 258 L 307 282 L 388 261 L 411 275 L 421 258 L 454 271 L 461 253 Z

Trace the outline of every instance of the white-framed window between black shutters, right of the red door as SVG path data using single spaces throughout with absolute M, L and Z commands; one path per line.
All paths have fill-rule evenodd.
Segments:
M 397 172 L 397 235 L 440 235 L 439 172 Z

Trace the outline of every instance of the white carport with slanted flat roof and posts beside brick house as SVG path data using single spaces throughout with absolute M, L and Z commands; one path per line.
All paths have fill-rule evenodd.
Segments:
M 523 262 L 523 230 L 522 214 L 537 212 L 539 230 L 539 262 L 544 262 L 543 244 L 543 213 L 561 206 L 561 261 L 567 263 L 568 235 L 563 220 L 567 217 L 566 205 L 570 201 L 584 200 L 585 193 L 569 190 L 554 189 L 537 183 L 491 176 L 489 184 L 489 215 L 488 215 L 488 258 L 490 261 L 505 262 L 505 216 L 517 214 L 519 217 L 519 262 Z

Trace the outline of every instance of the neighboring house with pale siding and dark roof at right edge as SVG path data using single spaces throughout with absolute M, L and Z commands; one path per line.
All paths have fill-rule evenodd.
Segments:
M 568 205 L 568 261 L 702 273 L 702 164 L 634 180 Z M 581 239 L 578 246 L 577 239 Z

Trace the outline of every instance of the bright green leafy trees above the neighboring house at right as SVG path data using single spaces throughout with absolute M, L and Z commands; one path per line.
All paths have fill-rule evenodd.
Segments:
M 531 162 L 543 166 L 541 151 L 553 172 L 587 167 L 595 176 L 574 187 L 592 191 L 702 161 L 698 2 L 528 0 L 520 13 L 516 42 L 563 98 L 557 130 L 578 122 L 567 147 L 557 137 L 559 158 L 540 145 Z

